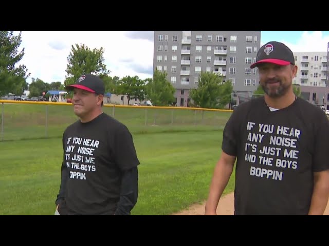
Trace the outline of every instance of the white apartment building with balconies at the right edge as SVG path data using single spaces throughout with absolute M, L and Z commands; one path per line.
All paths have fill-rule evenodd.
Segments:
M 301 86 L 327 85 L 327 52 L 294 52 L 298 72 L 293 83 Z

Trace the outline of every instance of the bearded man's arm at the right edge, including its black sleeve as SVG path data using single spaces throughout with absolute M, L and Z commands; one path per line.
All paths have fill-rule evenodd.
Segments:
M 329 197 L 329 120 L 324 112 L 317 117 L 313 152 L 313 194 L 309 215 L 323 215 Z

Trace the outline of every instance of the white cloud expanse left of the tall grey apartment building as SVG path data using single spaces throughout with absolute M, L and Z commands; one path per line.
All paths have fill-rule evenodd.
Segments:
M 111 76 L 137 75 L 142 79 L 152 76 L 133 68 L 144 71 L 153 67 L 153 42 L 132 39 L 125 31 L 23 31 L 20 48 L 25 48 L 25 55 L 19 64 L 26 65 L 31 73 L 28 82 L 38 77 L 47 83 L 63 83 L 67 56 L 75 44 L 85 44 L 90 49 L 103 47 Z

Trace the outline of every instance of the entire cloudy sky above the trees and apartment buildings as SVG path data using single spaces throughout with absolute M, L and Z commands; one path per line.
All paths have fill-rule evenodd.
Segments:
M 31 73 L 28 83 L 32 77 L 63 83 L 71 45 L 85 44 L 90 49 L 104 48 L 111 76 L 145 79 L 152 77 L 153 37 L 153 31 L 22 31 L 25 55 L 20 64 Z M 285 43 L 294 52 L 325 52 L 329 31 L 262 31 L 261 44 L 271 40 Z

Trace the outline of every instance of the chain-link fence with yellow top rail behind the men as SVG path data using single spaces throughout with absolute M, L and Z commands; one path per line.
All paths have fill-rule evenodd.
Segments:
M 0 141 L 61 137 L 78 120 L 71 103 L 0 100 Z M 132 133 L 223 129 L 232 110 L 105 104 Z

